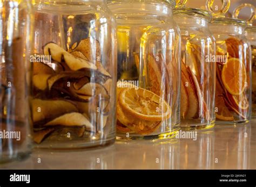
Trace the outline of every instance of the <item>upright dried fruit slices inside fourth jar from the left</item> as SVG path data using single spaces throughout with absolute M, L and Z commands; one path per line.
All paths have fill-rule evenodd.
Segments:
M 213 127 L 215 63 L 214 43 L 201 46 L 197 38 L 182 40 L 180 113 L 181 127 L 201 129 Z

